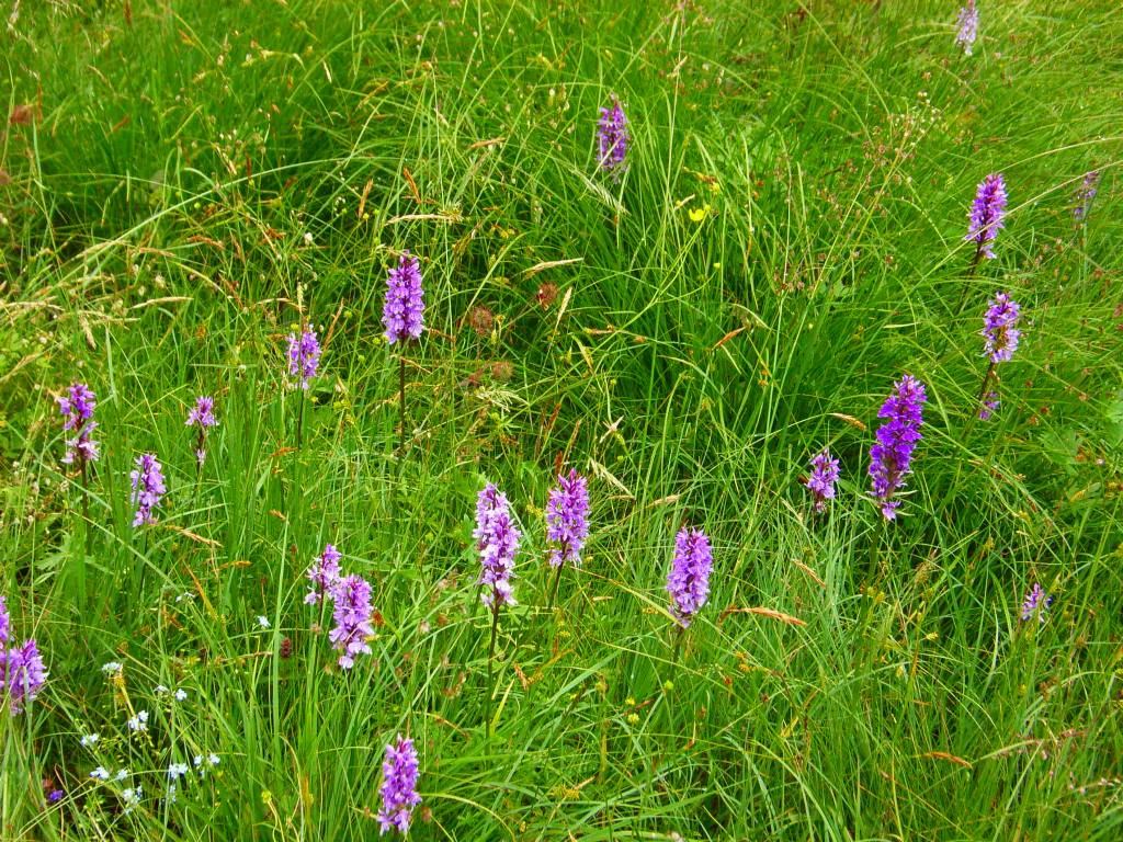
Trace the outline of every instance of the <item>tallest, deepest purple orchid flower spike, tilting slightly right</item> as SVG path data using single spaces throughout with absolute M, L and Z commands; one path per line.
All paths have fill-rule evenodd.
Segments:
M 906 374 L 893 384 L 893 393 L 877 413 L 887 422 L 878 428 L 877 443 L 869 450 L 870 494 L 880 501 L 886 520 L 897 516 L 901 502 L 894 495 L 905 487 L 904 478 L 911 472 L 912 454 L 922 438 L 920 428 L 924 423 L 926 400 L 924 384 Z

